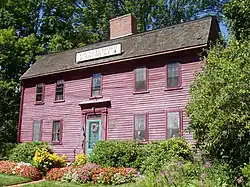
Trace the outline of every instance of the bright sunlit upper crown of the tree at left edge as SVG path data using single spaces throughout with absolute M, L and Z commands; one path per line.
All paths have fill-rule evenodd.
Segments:
M 14 29 L 0 29 L 0 80 L 19 82 L 42 48 L 34 35 L 18 37 Z

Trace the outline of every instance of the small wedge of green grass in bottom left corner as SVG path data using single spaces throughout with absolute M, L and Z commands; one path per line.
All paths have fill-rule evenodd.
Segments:
M 30 182 L 30 181 L 31 179 L 24 178 L 24 177 L 0 174 L 0 186 L 21 184 L 21 183 Z

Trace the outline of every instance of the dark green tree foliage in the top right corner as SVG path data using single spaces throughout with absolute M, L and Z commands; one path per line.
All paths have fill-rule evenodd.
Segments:
M 250 39 L 250 1 L 231 0 L 225 4 L 224 14 L 236 39 Z

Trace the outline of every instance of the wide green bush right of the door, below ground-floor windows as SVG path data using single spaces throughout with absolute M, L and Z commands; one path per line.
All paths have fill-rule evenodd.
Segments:
M 101 166 L 133 167 L 158 171 L 171 158 L 192 159 L 192 149 L 183 138 L 171 138 L 140 145 L 135 141 L 99 141 L 90 154 L 90 162 Z

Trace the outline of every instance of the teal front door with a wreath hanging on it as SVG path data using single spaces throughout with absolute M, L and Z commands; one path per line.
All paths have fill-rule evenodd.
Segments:
M 86 155 L 92 151 L 98 140 L 101 140 L 101 120 L 100 119 L 91 119 L 87 120 L 86 125 Z

